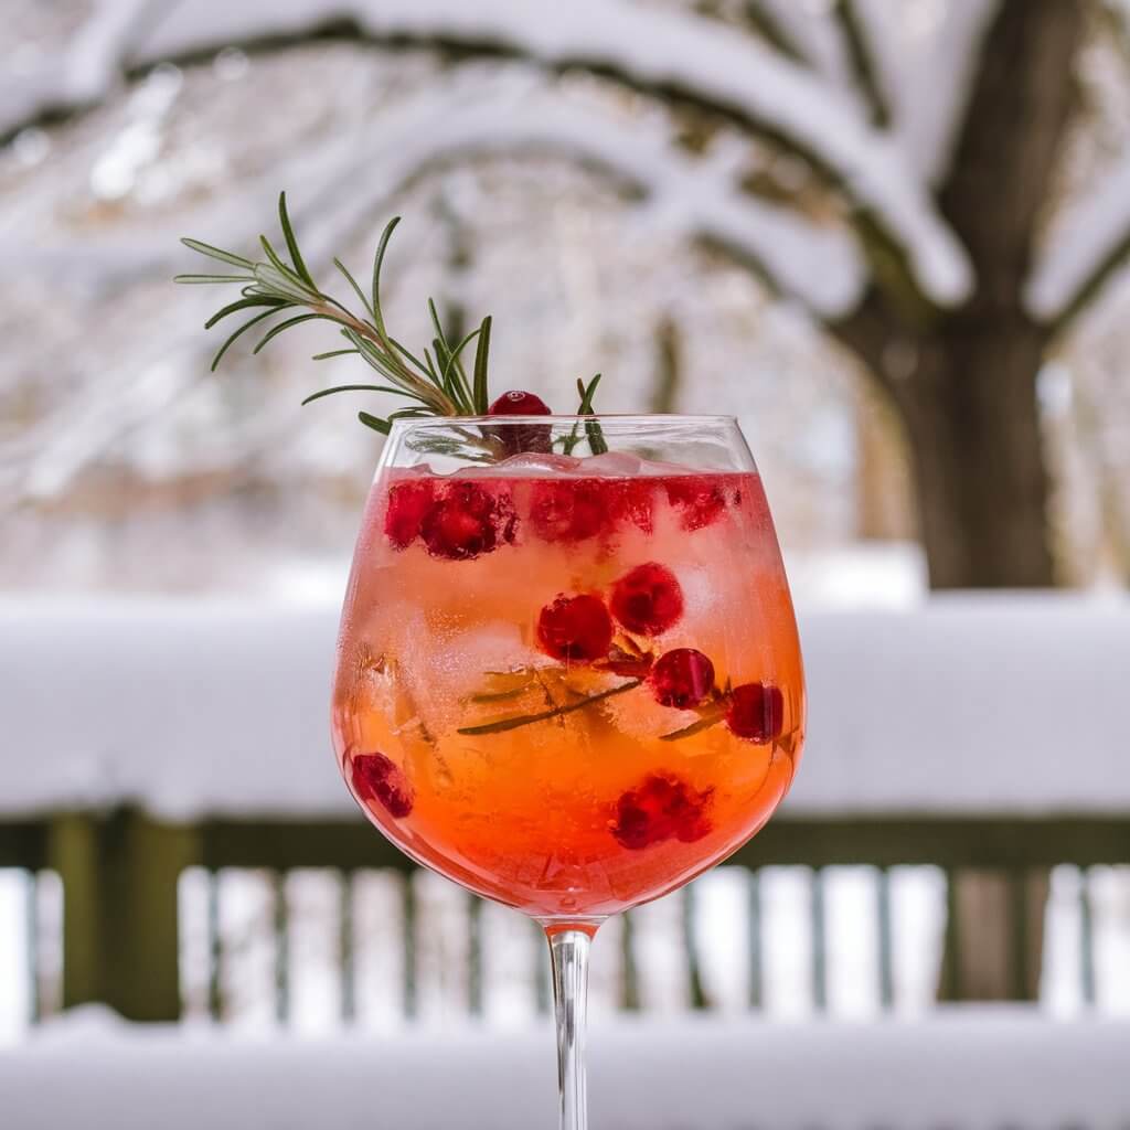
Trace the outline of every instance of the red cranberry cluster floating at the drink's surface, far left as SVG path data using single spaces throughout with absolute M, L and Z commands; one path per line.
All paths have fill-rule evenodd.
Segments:
M 389 490 L 384 533 L 397 549 L 419 539 L 433 557 L 470 560 L 518 534 L 518 513 L 506 489 L 431 479 L 398 483 Z

